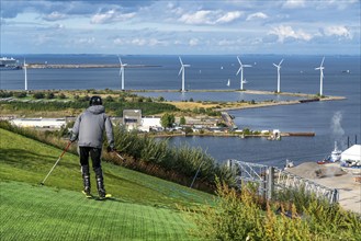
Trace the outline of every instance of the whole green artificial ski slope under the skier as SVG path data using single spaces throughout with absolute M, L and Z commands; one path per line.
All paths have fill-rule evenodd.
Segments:
M 40 186 L 60 153 L 0 129 L 1 240 L 196 240 L 194 223 L 176 205 L 194 207 L 213 196 L 103 163 L 114 198 L 87 199 L 78 157 L 70 153 Z

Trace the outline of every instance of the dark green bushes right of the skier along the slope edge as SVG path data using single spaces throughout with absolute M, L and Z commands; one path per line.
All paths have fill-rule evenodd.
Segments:
M 198 181 L 214 184 L 217 175 L 227 183 L 232 173 L 201 148 L 189 146 L 169 147 L 166 140 L 156 140 L 146 136 L 138 136 L 137 131 L 127 131 L 124 127 L 114 129 L 115 148 L 132 156 L 137 161 L 158 164 L 165 170 L 171 170 L 191 180 L 201 167 Z

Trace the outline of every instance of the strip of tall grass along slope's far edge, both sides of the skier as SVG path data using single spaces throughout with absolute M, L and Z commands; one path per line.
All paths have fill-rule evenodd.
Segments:
M 63 138 L 66 131 L 44 131 L 32 128 L 20 128 L 1 120 L 0 128 L 64 149 L 68 139 Z M 147 136 L 138 136 L 137 131 L 127 131 L 124 127 L 114 128 L 116 150 L 125 158 L 120 159 L 114 153 L 103 151 L 103 160 L 117 165 L 142 171 L 165 180 L 189 186 L 195 173 L 194 188 L 214 192 L 215 176 L 230 183 L 233 174 L 201 148 L 190 146 L 170 147 L 167 139 L 156 140 Z M 104 138 L 104 147 L 108 144 Z M 104 148 L 105 149 L 105 148 Z M 68 150 L 77 154 L 76 145 Z M 200 171 L 198 172 L 198 170 Z

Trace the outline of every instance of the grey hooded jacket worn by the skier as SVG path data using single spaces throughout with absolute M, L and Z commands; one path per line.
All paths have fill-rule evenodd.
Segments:
M 78 139 L 79 147 L 102 148 L 104 128 L 109 146 L 114 147 L 113 127 L 104 106 L 92 105 L 78 116 L 70 141 Z

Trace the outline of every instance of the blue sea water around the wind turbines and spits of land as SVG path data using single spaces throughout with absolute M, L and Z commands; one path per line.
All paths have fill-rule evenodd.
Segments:
M 26 55 L 13 56 L 27 64 L 117 64 L 115 55 Z M 170 101 L 268 101 L 295 100 L 284 95 L 258 95 L 240 92 L 196 92 L 196 90 L 239 89 L 240 77 L 236 56 L 181 56 L 185 68 L 185 93 L 169 92 L 181 89 L 178 56 L 121 56 L 123 64 L 150 65 L 157 67 L 125 68 L 125 89 L 138 90 L 145 96 L 163 96 Z M 281 91 L 319 93 L 319 67 L 323 56 L 240 56 L 247 90 L 277 90 L 277 68 L 281 68 Z M 284 137 L 281 141 L 264 138 L 238 137 L 174 137 L 171 145 L 188 144 L 201 147 L 218 162 L 227 159 L 282 167 L 285 159 L 295 163 L 321 160 L 334 149 L 350 142 L 360 142 L 360 56 L 326 56 L 324 70 L 324 94 L 345 96 L 342 101 L 312 102 L 297 105 L 280 105 L 252 110 L 230 111 L 235 123 L 242 128 L 255 130 L 314 131 L 315 137 Z M 227 82 L 230 82 L 229 87 Z M 120 69 L 27 69 L 30 90 L 84 90 L 121 89 Z M 0 71 L 0 89 L 22 90 L 22 70 Z M 163 90 L 162 92 L 140 92 L 142 90 Z

